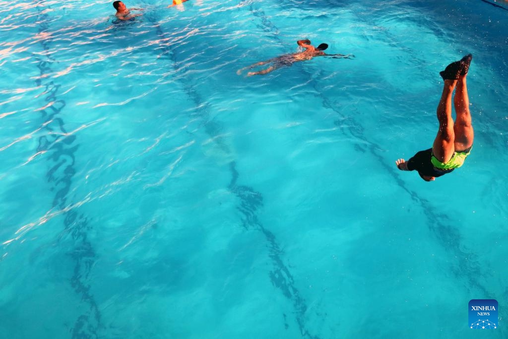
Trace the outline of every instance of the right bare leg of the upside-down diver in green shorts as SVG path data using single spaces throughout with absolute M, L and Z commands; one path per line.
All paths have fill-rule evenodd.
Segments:
M 471 113 L 469 112 L 466 75 L 459 78 L 456 88 L 454 98 L 455 112 L 457 113 L 454 126 L 455 150 L 462 151 L 471 147 L 474 139 Z

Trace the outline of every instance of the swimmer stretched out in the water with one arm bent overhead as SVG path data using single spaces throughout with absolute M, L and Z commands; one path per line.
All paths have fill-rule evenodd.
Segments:
M 281 67 L 292 66 L 293 63 L 296 63 L 297 61 L 310 60 L 315 56 L 331 56 L 333 58 L 346 58 L 346 59 L 352 59 L 353 57 L 355 57 L 353 54 L 347 54 L 347 55 L 326 54 L 323 51 L 328 48 L 327 44 L 321 44 L 317 47 L 314 47 L 310 44 L 310 40 L 308 40 L 308 39 L 298 40 L 297 44 L 298 44 L 298 46 L 305 48 L 305 50 L 303 52 L 284 54 L 284 55 L 277 56 L 275 58 L 272 58 L 272 59 L 269 59 L 266 61 L 261 61 L 260 63 L 256 63 L 256 64 L 253 64 L 253 65 L 250 65 L 250 66 L 247 66 L 247 67 L 244 67 L 244 68 L 238 70 L 236 72 L 236 74 L 240 75 L 242 73 L 242 71 L 244 71 L 248 68 L 252 69 L 256 66 L 272 64 L 270 67 L 268 67 L 267 69 L 264 69 L 262 71 L 247 73 L 248 76 L 264 75 L 264 74 L 270 73 L 272 71 L 275 71 L 276 69 L 281 68 Z

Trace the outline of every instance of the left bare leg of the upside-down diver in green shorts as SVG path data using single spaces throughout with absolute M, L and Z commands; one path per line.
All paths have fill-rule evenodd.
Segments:
M 441 100 L 437 105 L 437 120 L 439 121 L 439 130 L 437 131 L 434 144 L 432 145 L 432 153 L 442 163 L 452 159 L 455 151 L 455 133 L 452 118 L 452 94 L 457 80 L 444 80 Z

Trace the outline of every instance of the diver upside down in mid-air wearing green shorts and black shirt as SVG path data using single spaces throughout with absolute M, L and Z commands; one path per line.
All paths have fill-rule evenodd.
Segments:
M 439 74 L 444 80 L 441 100 L 437 106 L 439 130 L 432 148 L 421 150 L 407 162 L 398 159 L 395 164 L 401 171 L 417 170 L 425 181 L 448 174 L 459 168 L 469 155 L 473 145 L 474 132 L 469 112 L 466 76 L 472 55 L 447 66 Z M 455 106 L 455 122 L 452 118 L 452 96 Z

